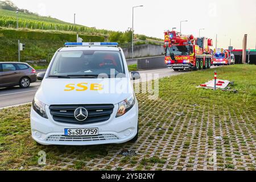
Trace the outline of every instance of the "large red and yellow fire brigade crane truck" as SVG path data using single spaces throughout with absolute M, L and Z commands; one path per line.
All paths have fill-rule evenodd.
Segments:
M 209 69 L 212 66 L 212 39 L 194 38 L 176 31 L 164 32 L 165 63 L 174 71 Z

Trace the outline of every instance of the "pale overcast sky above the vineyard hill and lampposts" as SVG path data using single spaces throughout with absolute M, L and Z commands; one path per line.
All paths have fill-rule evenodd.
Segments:
M 243 35 L 248 34 L 247 47 L 256 44 L 256 0 L 11 0 L 19 8 L 30 10 L 40 15 L 84 26 L 125 31 L 131 27 L 132 7 L 135 9 L 134 30 L 163 39 L 164 30 L 177 27 L 180 20 L 183 34 L 193 34 L 212 38 L 215 46 L 218 34 L 218 46 L 228 48 L 229 40 L 236 49 L 242 48 Z

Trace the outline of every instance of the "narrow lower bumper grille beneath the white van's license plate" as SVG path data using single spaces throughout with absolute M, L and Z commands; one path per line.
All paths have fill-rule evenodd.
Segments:
M 112 134 L 103 134 L 88 137 L 67 137 L 64 135 L 51 135 L 47 138 L 49 142 L 90 142 L 101 140 L 118 140 L 119 138 Z

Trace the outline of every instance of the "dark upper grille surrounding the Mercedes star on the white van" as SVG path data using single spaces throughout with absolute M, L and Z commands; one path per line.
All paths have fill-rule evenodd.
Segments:
M 84 107 L 88 110 L 88 117 L 80 122 L 75 118 L 74 112 L 77 108 Z M 53 120 L 61 123 L 75 123 L 78 125 L 108 121 L 113 113 L 113 104 L 104 105 L 51 105 L 49 106 Z

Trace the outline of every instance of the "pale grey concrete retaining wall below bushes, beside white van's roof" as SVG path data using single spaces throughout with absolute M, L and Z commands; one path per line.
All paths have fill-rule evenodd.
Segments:
M 131 47 L 123 48 L 123 53 L 125 53 L 126 59 L 132 57 Z M 147 57 L 147 56 L 160 56 L 164 55 L 164 48 L 160 45 L 144 44 L 139 46 L 134 46 L 134 57 Z

